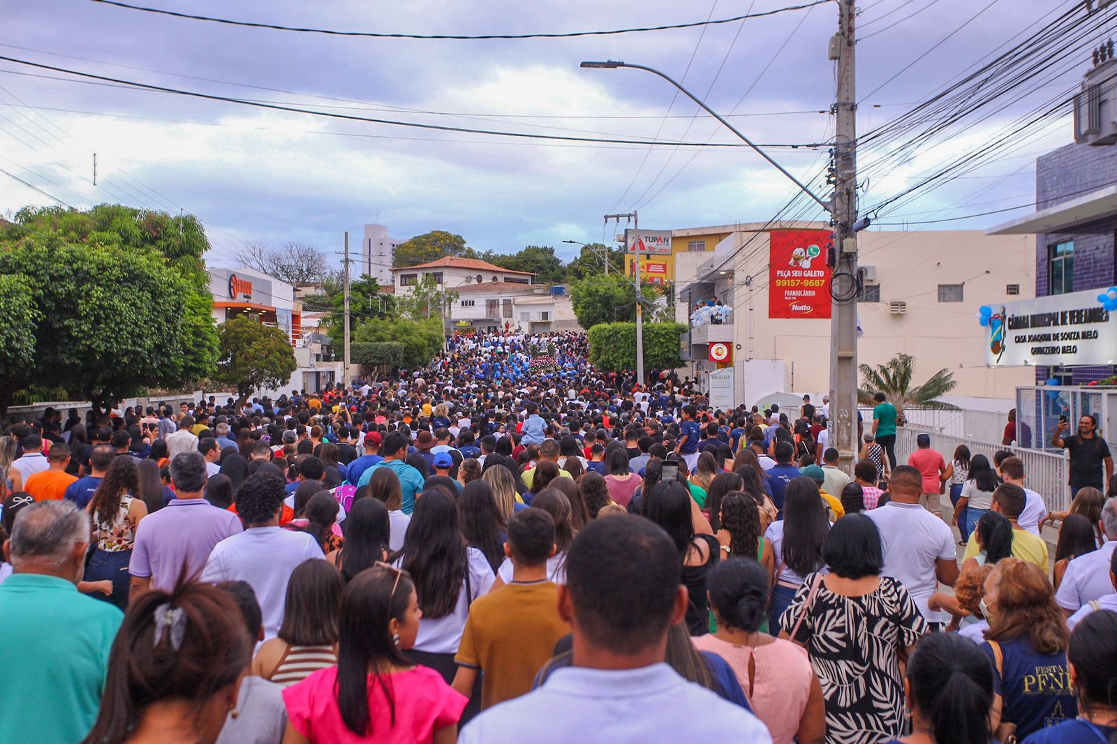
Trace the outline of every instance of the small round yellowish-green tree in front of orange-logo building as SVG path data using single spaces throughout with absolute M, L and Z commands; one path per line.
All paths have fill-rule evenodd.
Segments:
M 237 388 L 242 403 L 257 390 L 286 385 L 298 369 L 287 334 L 248 315 L 221 324 L 214 380 Z

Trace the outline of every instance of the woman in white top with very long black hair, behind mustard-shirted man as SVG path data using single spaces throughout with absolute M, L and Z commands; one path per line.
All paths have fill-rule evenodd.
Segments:
M 496 576 L 485 554 L 469 547 L 461 536 L 457 504 L 449 494 L 436 488 L 416 499 L 402 556 L 395 564 L 411 575 L 423 611 L 408 658 L 436 669 L 450 684 L 458 670 L 454 656 L 469 605 L 489 590 Z M 467 719 L 480 709 L 479 683 L 478 678 Z

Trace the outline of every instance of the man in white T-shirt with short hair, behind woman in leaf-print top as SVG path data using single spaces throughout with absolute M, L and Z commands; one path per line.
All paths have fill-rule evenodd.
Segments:
M 958 580 L 954 533 L 919 505 L 923 475 L 916 468 L 896 466 L 890 492 L 888 504 L 866 512 L 880 531 L 884 574 L 904 584 L 927 622 L 942 622 L 941 613 L 927 608 L 927 600 L 938 589 L 937 582 L 953 586 Z

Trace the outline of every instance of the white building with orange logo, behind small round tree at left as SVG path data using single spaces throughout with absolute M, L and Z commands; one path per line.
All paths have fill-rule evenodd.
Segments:
M 278 390 L 260 390 L 260 395 L 278 395 L 292 390 L 321 390 L 327 382 L 341 382 L 342 363 L 323 349 L 313 319 L 314 333 L 304 335 L 303 303 L 295 299 L 295 287 L 266 274 L 245 267 L 210 268 L 210 294 L 213 296 L 213 319 L 218 324 L 250 315 L 264 325 L 276 326 L 287 334 L 298 368 L 287 384 Z M 328 340 L 327 344 L 328 346 Z

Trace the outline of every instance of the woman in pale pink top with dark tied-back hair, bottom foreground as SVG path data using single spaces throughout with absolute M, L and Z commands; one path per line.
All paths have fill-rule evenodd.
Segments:
M 751 557 L 722 561 L 709 573 L 709 604 L 717 631 L 693 638 L 733 668 L 753 712 L 768 727 L 773 744 L 821 743 L 825 700 L 806 659 L 806 649 L 763 632 L 768 572 Z

